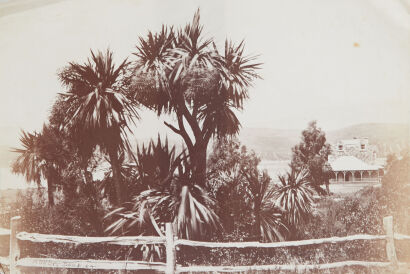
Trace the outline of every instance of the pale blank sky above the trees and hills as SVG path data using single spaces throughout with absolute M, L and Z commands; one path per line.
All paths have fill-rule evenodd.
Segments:
M 85 61 L 90 48 L 131 56 L 139 35 L 183 26 L 198 7 L 206 36 L 220 46 L 245 39 L 264 63 L 239 115 L 244 127 L 409 123 L 410 1 L 49 2 L 0 0 L 3 128 L 41 128 L 69 61 Z M 164 130 L 152 113 L 142 116 L 137 135 Z

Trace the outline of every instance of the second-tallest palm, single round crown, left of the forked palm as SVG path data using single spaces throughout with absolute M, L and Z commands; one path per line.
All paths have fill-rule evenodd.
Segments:
M 110 158 L 116 189 L 116 202 L 122 202 L 119 154 L 128 151 L 129 123 L 138 119 L 135 105 L 124 91 L 127 77 L 127 60 L 118 67 L 112 52 L 105 54 L 91 51 L 91 59 L 83 65 L 70 63 L 60 74 L 61 82 L 68 88 L 63 95 L 69 105 L 63 126 L 78 142 L 84 142 L 83 149 L 92 151 L 97 145 Z

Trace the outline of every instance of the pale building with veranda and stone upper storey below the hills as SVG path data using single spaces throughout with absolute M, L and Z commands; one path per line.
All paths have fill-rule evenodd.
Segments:
M 380 182 L 384 159 L 377 158 L 377 147 L 368 138 L 340 140 L 331 148 L 331 183 Z

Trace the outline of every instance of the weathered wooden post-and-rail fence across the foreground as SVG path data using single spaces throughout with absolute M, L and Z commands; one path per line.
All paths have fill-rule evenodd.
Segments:
M 165 237 L 157 236 L 127 236 L 127 237 L 80 237 L 64 235 L 47 235 L 38 233 L 19 232 L 20 217 L 11 218 L 10 230 L 0 228 L 0 236 L 10 235 L 10 255 L 0 257 L 0 264 L 7 265 L 10 273 L 19 273 L 22 267 L 31 268 L 64 268 L 64 269 L 99 269 L 99 270 L 155 270 L 165 273 L 181 272 L 238 272 L 238 271 L 258 271 L 258 270 L 320 270 L 333 269 L 349 266 L 362 267 L 393 267 L 401 265 L 407 267 L 408 264 L 397 261 L 394 240 L 410 240 L 410 236 L 396 234 L 393 232 L 393 217 L 385 217 L 383 225 L 386 235 L 352 235 L 347 237 L 331 237 L 323 239 L 310 239 L 289 242 L 202 242 L 184 239 L 176 239 L 173 235 L 172 225 L 165 226 Z M 326 264 L 302 264 L 302 265 L 252 265 L 252 266 L 179 266 L 176 265 L 176 249 L 178 245 L 200 246 L 209 248 L 278 248 L 295 247 L 306 245 L 320 245 L 326 243 L 340 243 L 357 240 L 385 240 L 387 262 L 369 261 L 343 261 Z M 52 258 L 20 258 L 19 241 L 31 241 L 36 243 L 60 243 L 60 244 L 94 244 L 106 243 L 112 245 L 135 246 L 137 244 L 164 244 L 166 247 L 166 262 L 145 262 L 145 261 L 112 261 L 112 260 L 72 260 L 72 259 L 52 259 Z

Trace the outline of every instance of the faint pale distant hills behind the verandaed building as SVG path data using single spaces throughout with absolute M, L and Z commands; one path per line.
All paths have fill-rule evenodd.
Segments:
M 239 139 L 265 160 L 288 160 L 291 149 L 300 142 L 302 130 L 243 128 Z M 353 137 L 368 137 L 376 145 L 378 156 L 400 152 L 410 146 L 410 128 L 406 124 L 366 123 L 325 132 L 329 143 Z

